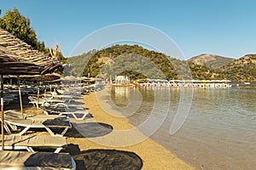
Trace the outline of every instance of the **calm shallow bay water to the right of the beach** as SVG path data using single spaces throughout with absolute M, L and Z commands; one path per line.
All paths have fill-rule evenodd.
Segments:
M 150 138 L 197 169 L 256 169 L 256 88 L 116 87 L 111 92 L 119 107 L 130 100 L 137 103 L 137 111 L 129 116 L 135 126 L 152 111 L 154 116 L 167 111 L 165 122 Z M 183 126 L 170 135 L 177 109 L 189 105 Z

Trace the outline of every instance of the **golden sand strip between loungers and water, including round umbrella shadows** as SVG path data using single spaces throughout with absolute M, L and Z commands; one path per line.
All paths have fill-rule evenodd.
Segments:
M 85 121 L 76 121 L 71 118 L 73 128 L 65 134 L 67 152 L 73 156 L 78 170 L 83 169 L 195 169 L 177 158 L 170 150 L 166 150 L 152 139 L 145 138 L 136 127 L 129 123 L 126 117 L 109 115 L 102 110 L 96 98 L 96 93 L 84 95 L 84 104 L 91 118 Z M 24 99 L 24 112 L 32 114 L 35 107 L 28 105 Z M 6 110 L 20 111 L 19 102 L 7 105 Z M 41 109 L 39 114 L 44 114 Z M 134 129 L 134 135 L 115 136 L 114 130 Z M 35 134 L 29 131 L 27 135 Z M 36 132 L 37 135 L 49 135 L 45 131 Z M 133 139 L 145 139 L 136 144 L 127 144 Z M 126 146 L 122 146 L 126 144 Z M 119 147 L 121 146 L 121 147 Z M 113 167 L 109 167 L 113 166 Z

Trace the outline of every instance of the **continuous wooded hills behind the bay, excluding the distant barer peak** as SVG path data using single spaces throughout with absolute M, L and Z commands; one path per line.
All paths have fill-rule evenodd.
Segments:
M 217 56 L 216 59 L 220 58 Z M 221 59 L 223 63 L 225 59 Z M 226 59 L 225 62 L 227 60 L 230 59 Z M 73 69 L 66 74 L 85 77 L 126 75 L 131 79 L 229 79 L 239 82 L 253 82 L 256 77 L 255 55 L 248 55 L 228 65 L 212 68 L 209 65 L 197 65 L 190 59 L 175 59 L 138 45 L 113 45 L 102 50 L 93 50 L 68 58 L 67 64 L 73 65 Z

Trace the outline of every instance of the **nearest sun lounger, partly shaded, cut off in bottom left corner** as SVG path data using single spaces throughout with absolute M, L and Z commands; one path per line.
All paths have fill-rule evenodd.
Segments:
M 75 170 L 76 164 L 73 157 L 68 154 L 0 150 L 0 169 Z

